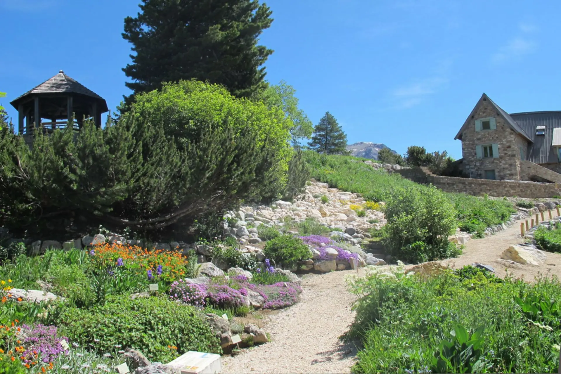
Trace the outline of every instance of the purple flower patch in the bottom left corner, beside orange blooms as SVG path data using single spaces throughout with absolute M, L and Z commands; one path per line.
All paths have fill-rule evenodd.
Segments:
M 26 358 L 25 363 L 30 363 L 33 359 L 28 359 L 36 351 L 40 354 L 40 359 L 44 363 L 54 362 L 58 355 L 68 354 L 68 351 L 62 348 L 61 341 L 66 336 L 57 336 L 56 326 L 36 325 L 34 327 L 22 325 L 23 334 L 22 345 L 26 348 L 22 354 Z

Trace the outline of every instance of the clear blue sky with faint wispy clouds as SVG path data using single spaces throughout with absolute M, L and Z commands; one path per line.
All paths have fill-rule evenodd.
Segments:
M 0 103 L 64 70 L 114 109 L 128 94 L 123 19 L 138 0 L 0 0 Z M 561 110 L 561 2 L 269 0 L 267 79 L 285 80 L 314 124 L 398 153 L 454 141 L 486 93 L 509 113 Z

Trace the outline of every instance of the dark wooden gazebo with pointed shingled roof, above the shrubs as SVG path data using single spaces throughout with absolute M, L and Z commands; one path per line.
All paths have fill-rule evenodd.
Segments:
M 75 122 L 72 123 L 75 130 L 80 130 L 84 119 L 89 118 L 93 119 L 95 126 L 100 127 L 102 113 L 109 111 L 101 96 L 82 86 L 62 70 L 10 104 L 19 113 L 20 135 L 31 135 L 35 127 L 42 127 L 45 132 L 65 128 L 72 114 L 75 117 Z M 50 122 L 43 122 L 41 118 Z

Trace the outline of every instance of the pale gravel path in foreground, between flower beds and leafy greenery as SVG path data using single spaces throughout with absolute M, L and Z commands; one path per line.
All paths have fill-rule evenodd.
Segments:
M 360 275 L 363 275 L 362 270 Z M 351 325 L 354 295 L 345 278 L 356 270 L 333 271 L 302 278 L 301 301 L 265 317 L 272 341 L 223 357 L 222 373 L 349 373 L 356 349 L 339 336 Z

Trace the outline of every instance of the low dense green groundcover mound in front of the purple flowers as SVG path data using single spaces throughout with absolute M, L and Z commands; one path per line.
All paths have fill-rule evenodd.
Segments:
M 188 350 L 220 352 L 218 338 L 196 309 L 167 297 L 111 297 L 103 307 L 67 308 L 56 322 L 72 341 L 90 344 L 99 353 L 122 345 L 139 349 L 152 361 L 169 362 Z

